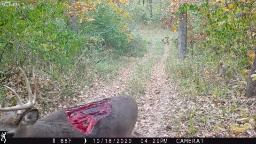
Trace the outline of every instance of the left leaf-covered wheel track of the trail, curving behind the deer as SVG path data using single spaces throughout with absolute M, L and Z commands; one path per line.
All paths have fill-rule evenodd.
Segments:
M 147 59 L 154 52 L 155 43 L 152 43 L 148 52 L 140 59 L 139 63 L 147 61 Z M 124 92 L 126 85 L 129 83 L 128 80 L 132 74 L 135 62 L 131 63 L 128 68 L 124 68 L 115 76 L 114 80 L 109 83 L 101 81 L 94 85 L 88 91 L 85 91 L 84 94 L 80 97 L 85 99 L 86 102 L 91 102 L 95 100 L 101 100 L 116 96 Z M 78 104 L 79 105 L 79 104 Z

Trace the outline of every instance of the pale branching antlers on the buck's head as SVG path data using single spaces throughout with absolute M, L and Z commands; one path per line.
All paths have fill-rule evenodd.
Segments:
M 27 86 L 27 91 L 29 94 L 29 100 L 26 104 L 23 104 L 22 100 L 20 99 L 20 97 L 18 96 L 18 94 L 16 93 L 16 91 L 14 91 L 12 88 L 6 86 L 6 85 L 1 85 L 4 86 L 6 88 L 8 88 L 9 90 L 11 90 L 14 94 L 15 97 L 17 99 L 17 105 L 13 106 L 13 107 L 0 107 L 0 111 L 3 112 L 9 112 L 9 111 L 18 111 L 18 110 L 22 110 L 22 109 L 29 109 L 31 108 L 35 102 L 36 102 L 36 97 L 37 97 L 37 83 L 36 83 L 36 76 L 35 76 L 35 72 L 34 72 L 34 67 L 32 69 L 32 73 L 33 73 L 33 78 L 34 78 L 34 84 L 35 84 L 35 91 L 34 91 L 34 96 L 32 95 L 32 91 L 31 91 L 31 87 L 30 87 L 30 83 L 28 81 L 28 78 L 26 77 L 26 75 L 24 74 L 23 70 L 18 67 L 21 70 L 22 76 L 25 79 L 26 82 L 26 86 Z

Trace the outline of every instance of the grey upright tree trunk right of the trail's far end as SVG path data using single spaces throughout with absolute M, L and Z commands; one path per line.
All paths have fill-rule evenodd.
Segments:
M 187 54 L 186 12 L 180 12 L 178 17 L 178 58 L 185 59 Z

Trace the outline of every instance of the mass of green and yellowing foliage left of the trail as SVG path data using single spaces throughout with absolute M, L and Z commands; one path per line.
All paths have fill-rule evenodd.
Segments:
M 118 54 L 145 53 L 140 38 L 133 38 L 126 26 L 130 18 L 122 7 L 107 0 L 91 2 L 95 2 L 94 11 L 79 11 L 78 34 L 72 30 L 70 0 L 25 0 L 21 7 L 0 8 L 5 14 L 0 15 L 0 70 L 33 64 L 58 80 L 72 75 L 87 78 L 83 82 L 88 84 L 93 78 L 115 74 L 126 61 Z M 86 17 L 94 20 L 80 21 Z

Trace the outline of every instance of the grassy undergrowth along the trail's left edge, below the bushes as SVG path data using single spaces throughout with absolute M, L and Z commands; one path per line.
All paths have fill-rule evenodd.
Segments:
M 119 71 L 143 57 L 147 50 L 147 42 L 136 33 L 132 42 L 122 51 L 109 49 L 96 58 L 85 58 L 79 68 L 75 68 L 77 71 L 72 77 L 72 82 L 77 82 L 85 88 L 89 88 L 99 79 L 109 83 Z

